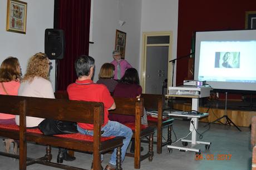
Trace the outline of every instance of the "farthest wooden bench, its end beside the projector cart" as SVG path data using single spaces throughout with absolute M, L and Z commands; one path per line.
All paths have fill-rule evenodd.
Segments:
M 174 119 L 171 117 L 163 118 L 164 95 L 161 94 L 141 94 L 144 99 L 145 109 L 154 109 L 158 112 L 157 117 L 147 116 L 149 126 L 157 129 L 156 152 L 162 153 L 162 147 L 171 144 L 171 127 Z M 166 142 L 163 142 L 163 128 L 168 127 L 168 136 Z M 143 141 L 146 142 L 146 141 Z

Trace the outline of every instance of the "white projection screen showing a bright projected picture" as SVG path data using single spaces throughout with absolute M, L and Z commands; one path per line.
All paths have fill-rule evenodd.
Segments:
M 194 79 L 214 89 L 256 91 L 256 29 L 196 32 Z

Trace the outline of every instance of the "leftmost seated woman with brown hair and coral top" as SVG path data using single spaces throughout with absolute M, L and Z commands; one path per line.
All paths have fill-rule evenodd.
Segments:
M 17 96 L 22 73 L 18 58 L 4 59 L 0 67 L 0 94 Z M 0 124 L 15 124 L 13 114 L 0 113 Z

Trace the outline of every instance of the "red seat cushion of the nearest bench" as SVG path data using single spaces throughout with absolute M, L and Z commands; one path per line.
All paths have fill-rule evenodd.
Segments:
M 19 126 L 17 126 L 16 124 L 0 124 L 0 128 L 19 131 Z M 38 128 L 27 129 L 27 132 L 43 134 L 40 131 L 40 129 L 38 129 Z M 81 134 L 81 133 L 57 134 L 57 135 L 54 135 L 54 136 L 62 137 L 62 138 L 78 139 L 78 140 L 81 140 L 81 141 L 93 142 L 93 136 L 86 135 L 86 134 Z M 107 141 L 107 140 L 112 139 L 112 138 L 115 138 L 115 137 L 114 136 L 111 136 L 111 137 L 101 137 L 101 142 Z

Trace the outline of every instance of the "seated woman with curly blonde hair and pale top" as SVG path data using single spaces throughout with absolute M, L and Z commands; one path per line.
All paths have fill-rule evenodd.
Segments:
M 28 97 L 42 97 L 42 98 L 55 98 L 52 84 L 49 79 L 49 72 L 51 62 L 45 53 L 36 53 L 32 56 L 27 65 L 27 72 L 19 87 L 18 96 Z M 16 124 L 19 125 L 19 116 L 15 118 Z M 37 128 L 44 119 L 37 117 L 26 117 L 28 128 Z M 66 161 L 73 161 L 76 158 L 71 157 L 67 153 L 67 149 L 60 148 L 57 162 L 62 163 L 63 159 Z

